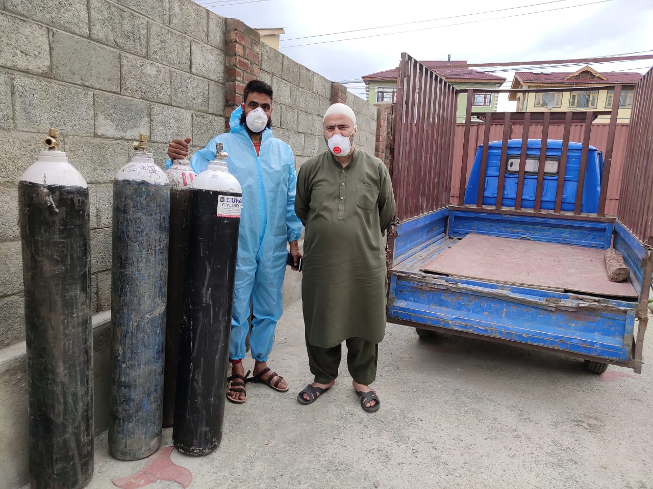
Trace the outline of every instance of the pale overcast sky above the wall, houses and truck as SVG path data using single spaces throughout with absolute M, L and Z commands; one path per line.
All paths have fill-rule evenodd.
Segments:
M 361 97 L 360 77 L 396 67 L 402 52 L 420 60 L 447 59 L 450 54 L 470 63 L 653 54 L 653 0 L 196 1 L 255 29 L 283 27 L 282 53 L 329 80 L 358 80 L 346 86 Z M 528 5 L 532 7 L 519 8 Z M 478 14 L 500 9 L 506 10 Z M 541 13 L 524 15 L 528 12 Z M 479 20 L 485 22 L 475 22 Z M 448 24 L 460 25 L 444 27 Z M 387 25 L 394 26 L 377 29 Z M 333 34 L 343 31 L 356 32 Z M 323 34 L 329 35 L 315 37 Z M 599 71 L 640 73 L 652 65 L 653 59 L 592 63 Z M 514 72 L 494 72 L 507 78 L 509 87 Z

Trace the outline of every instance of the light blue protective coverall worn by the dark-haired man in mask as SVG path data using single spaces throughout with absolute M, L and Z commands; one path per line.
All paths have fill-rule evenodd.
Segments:
M 295 215 L 293 151 L 265 128 L 257 156 L 245 125 L 240 124 L 241 115 L 238 107 L 229 120 L 231 131 L 215 136 L 190 162 L 195 173 L 206 170 L 215 159 L 215 144 L 222 143 L 229 173 L 242 187 L 229 358 L 245 357 L 251 297 L 254 318 L 249 346 L 253 359 L 264 362 L 272 351 L 274 329 L 283 312 L 287 243 L 301 237 L 302 223 Z M 168 160 L 166 168 L 171 164 Z

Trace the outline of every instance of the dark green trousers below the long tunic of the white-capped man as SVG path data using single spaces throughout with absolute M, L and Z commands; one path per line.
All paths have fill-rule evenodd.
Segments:
M 379 356 L 379 344 L 363 338 L 347 338 L 347 368 L 355 382 L 370 385 L 376 378 L 376 364 Z M 315 382 L 328 384 L 338 377 L 338 367 L 342 358 L 342 344 L 331 348 L 311 345 L 306 340 L 308 365 Z

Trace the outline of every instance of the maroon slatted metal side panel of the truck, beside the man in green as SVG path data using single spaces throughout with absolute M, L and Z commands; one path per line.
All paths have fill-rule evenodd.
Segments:
M 390 175 L 400 221 L 449 205 L 458 91 L 402 53 Z

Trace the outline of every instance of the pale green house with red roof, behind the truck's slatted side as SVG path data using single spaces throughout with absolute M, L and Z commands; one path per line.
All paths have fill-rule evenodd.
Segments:
M 447 82 L 451 83 L 460 91 L 470 88 L 499 88 L 505 82 L 505 78 L 501 76 L 472 70 L 467 66 L 467 61 L 420 61 L 420 63 L 431 68 L 441 78 L 447 80 Z M 366 85 L 368 102 L 370 104 L 394 102 L 397 92 L 397 75 L 398 70 L 394 68 L 392 70 L 379 71 L 363 76 L 362 80 Z M 473 112 L 495 112 L 496 104 L 496 94 L 478 92 L 474 94 L 474 102 L 471 110 Z M 457 122 L 464 122 L 466 106 L 467 94 L 460 93 L 456 111 Z

